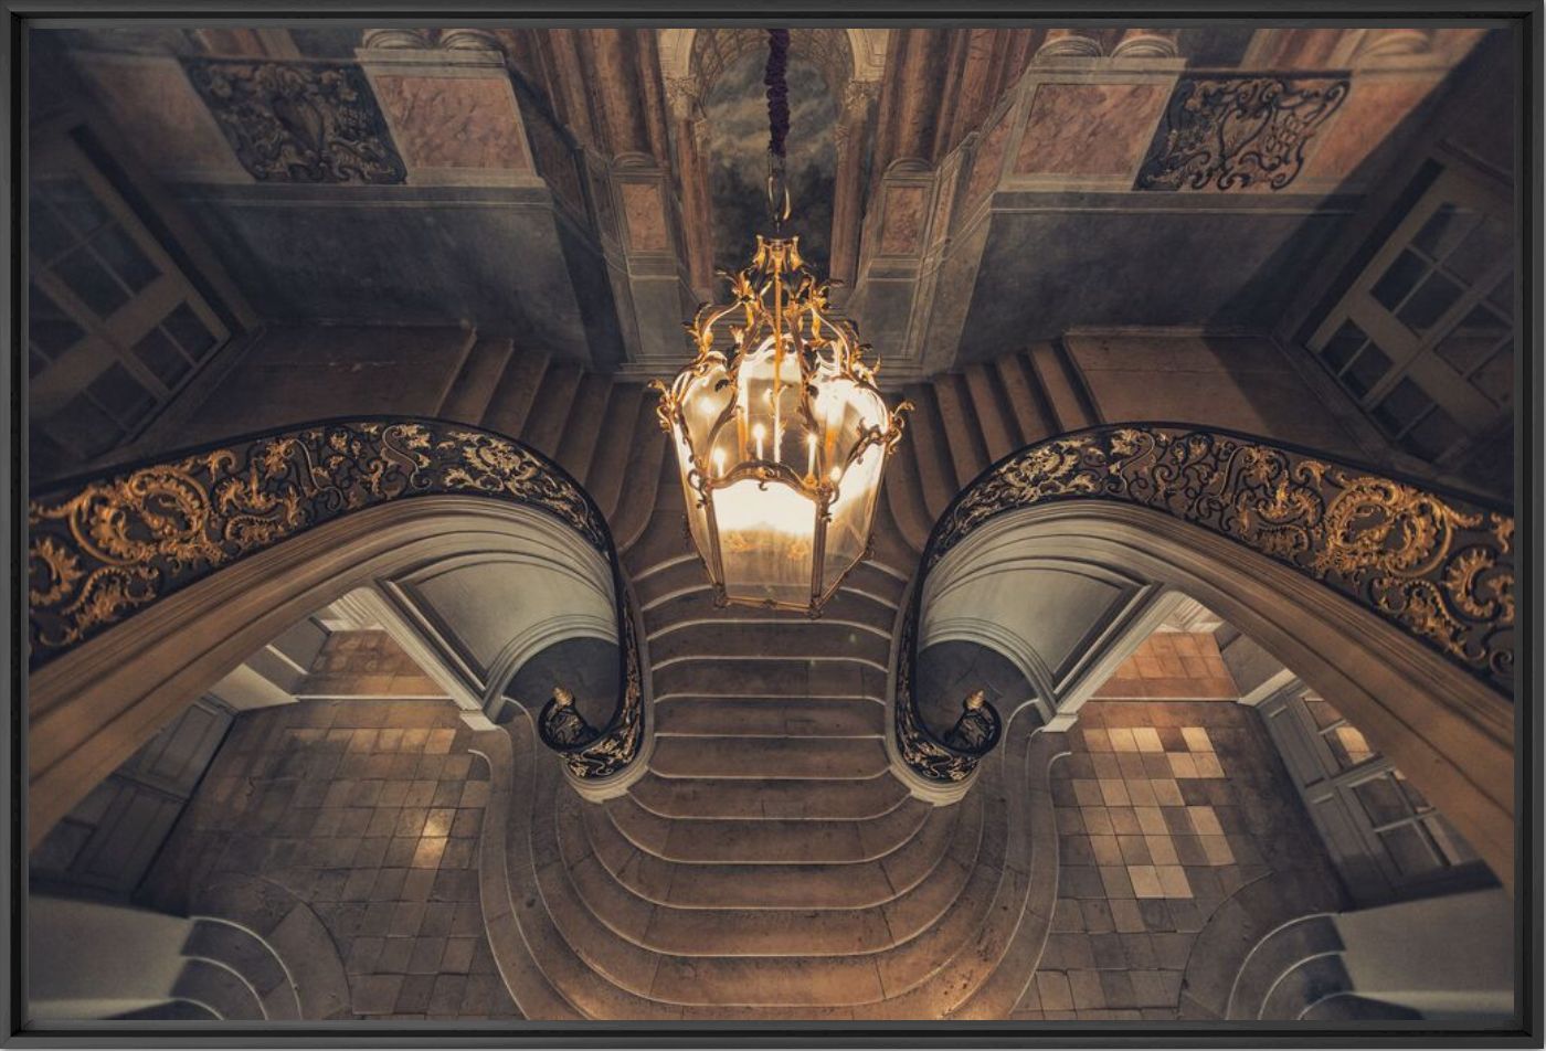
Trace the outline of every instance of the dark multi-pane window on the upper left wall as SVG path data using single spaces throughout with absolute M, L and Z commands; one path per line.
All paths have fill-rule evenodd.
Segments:
M 229 332 L 68 138 L 28 187 L 32 425 L 77 459 L 125 442 Z

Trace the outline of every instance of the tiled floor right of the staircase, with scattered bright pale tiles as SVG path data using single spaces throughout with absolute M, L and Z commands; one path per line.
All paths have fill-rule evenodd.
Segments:
M 1334 881 L 1257 714 L 1091 702 L 1053 765 L 1059 890 L 1023 1019 L 1175 1019 L 1197 932 L 1275 869 Z

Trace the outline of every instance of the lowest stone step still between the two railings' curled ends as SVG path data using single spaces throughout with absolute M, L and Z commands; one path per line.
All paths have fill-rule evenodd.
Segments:
M 662 777 L 802 782 L 866 781 L 889 765 L 875 737 L 657 737 L 649 759 Z

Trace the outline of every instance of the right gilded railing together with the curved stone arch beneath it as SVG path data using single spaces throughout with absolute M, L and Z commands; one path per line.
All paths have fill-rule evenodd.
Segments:
M 991 606 L 996 629 L 976 640 L 1014 658 L 1048 638 L 1027 573 L 1119 573 L 1133 594 L 1197 598 L 1336 696 L 1509 884 L 1512 526 L 1458 495 L 1241 434 L 1124 425 L 1028 447 L 955 499 L 923 553 L 898 638 L 894 756 L 925 796 L 969 781 L 971 754 L 934 737 L 909 692 L 914 638 L 942 620 L 935 592 L 945 623 L 966 623 L 955 611 L 974 595 Z

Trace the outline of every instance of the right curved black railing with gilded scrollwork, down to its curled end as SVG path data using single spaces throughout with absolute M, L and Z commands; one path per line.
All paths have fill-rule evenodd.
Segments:
M 1514 696 L 1514 515 L 1500 504 L 1224 428 L 1101 425 L 997 461 L 929 533 L 898 634 L 894 702 L 897 750 L 920 776 L 962 781 L 986 754 L 940 740 L 912 697 L 929 570 L 999 515 L 1067 501 L 1147 507 L 1224 536 Z

